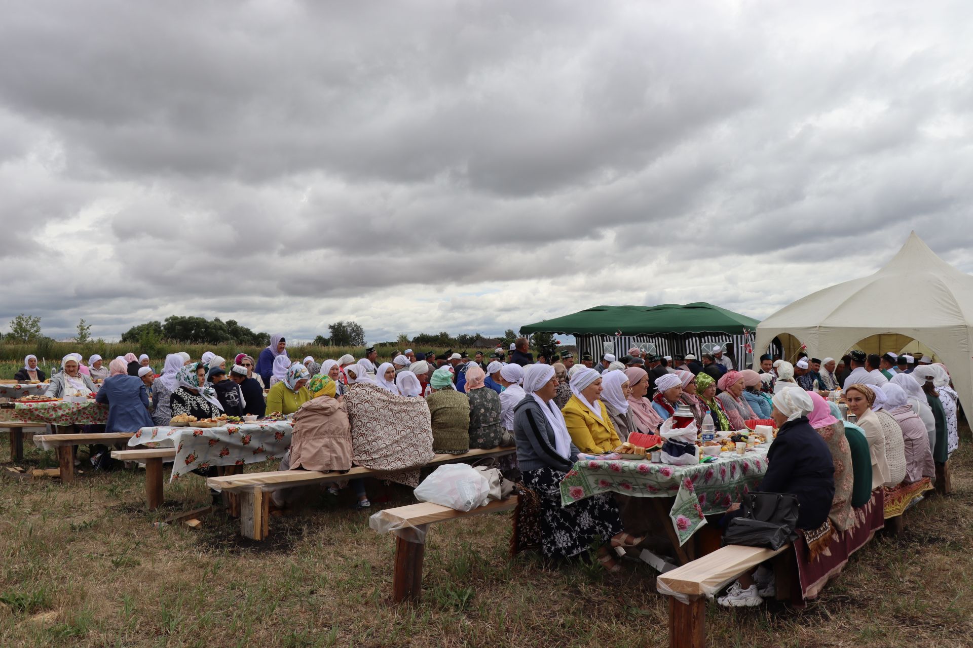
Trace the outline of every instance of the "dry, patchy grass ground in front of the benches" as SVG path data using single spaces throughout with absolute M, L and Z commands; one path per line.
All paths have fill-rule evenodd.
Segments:
M 969 646 L 970 443 L 954 457 L 955 495 L 910 510 L 903 538 L 877 537 L 805 610 L 708 605 L 708 645 Z M 55 464 L 27 445 L 21 465 Z M 349 498 L 319 495 L 252 543 L 222 513 L 200 529 L 153 528 L 209 497 L 190 476 L 166 484 L 165 506 L 148 514 L 143 480 L 127 470 L 71 486 L 0 479 L 0 646 L 667 645 L 667 602 L 652 569 L 625 563 L 615 576 L 536 556 L 511 562 L 504 515 L 433 527 L 423 601 L 395 606 L 386 600 L 392 538 L 369 529 Z M 377 483 L 368 488 L 380 495 Z M 412 501 L 408 490 L 391 494 L 382 506 Z

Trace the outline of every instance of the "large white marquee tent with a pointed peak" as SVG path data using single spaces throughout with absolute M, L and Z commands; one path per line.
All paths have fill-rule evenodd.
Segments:
M 785 306 L 757 326 L 756 349 L 781 333 L 816 358 L 841 358 L 859 341 L 894 333 L 918 340 L 949 368 L 973 408 L 973 276 L 936 256 L 916 232 L 881 270 Z M 883 351 L 893 351 L 884 349 Z

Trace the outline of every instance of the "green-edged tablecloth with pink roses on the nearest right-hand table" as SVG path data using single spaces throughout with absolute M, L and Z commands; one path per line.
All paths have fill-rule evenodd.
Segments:
M 767 450 L 759 446 L 745 455 L 722 453 L 709 463 L 668 465 L 634 460 L 578 461 L 560 483 L 561 505 L 602 493 L 635 497 L 675 497 L 669 518 L 679 544 L 706 524 L 706 515 L 726 512 L 767 472 Z

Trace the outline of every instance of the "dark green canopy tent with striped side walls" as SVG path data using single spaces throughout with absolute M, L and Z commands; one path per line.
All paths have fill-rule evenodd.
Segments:
M 621 358 L 631 347 L 648 348 L 660 356 L 681 353 L 699 358 L 713 344 L 721 344 L 739 367 L 749 364 L 751 358 L 745 346 L 752 342 L 757 324 L 759 321 L 753 318 L 698 301 L 659 306 L 595 306 L 521 326 L 521 333 L 573 335 L 578 351 L 595 358 L 605 353 Z

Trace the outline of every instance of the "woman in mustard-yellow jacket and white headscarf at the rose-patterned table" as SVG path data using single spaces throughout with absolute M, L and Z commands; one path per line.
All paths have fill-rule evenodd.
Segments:
M 574 374 L 570 382 L 573 394 L 560 411 L 571 441 L 583 453 L 600 455 L 622 445 L 605 406 L 601 403 L 601 376 L 595 369 Z

